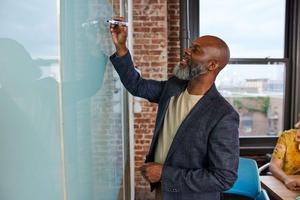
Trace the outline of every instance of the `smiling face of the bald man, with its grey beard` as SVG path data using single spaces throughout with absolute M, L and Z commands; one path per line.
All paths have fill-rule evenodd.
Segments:
M 190 48 L 185 49 L 185 55 L 174 68 L 174 75 L 182 80 L 192 80 L 197 76 L 206 74 L 208 57 L 201 41 L 195 40 Z

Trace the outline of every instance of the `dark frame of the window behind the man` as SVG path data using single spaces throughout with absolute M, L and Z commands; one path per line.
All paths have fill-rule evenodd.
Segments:
M 199 0 L 201 1 L 201 0 Z M 181 56 L 191 41 L 200 35 L 200 2 L 180 0 Z M 232 58 L 229 64 L 285 63 L 285 90 L 283 129 L 290 129 L 300 113 L 300 2 L 286 0 L 283 58 Z M 277 136 L 241 136 L 241 155 L 265 155 L 272 153 Z

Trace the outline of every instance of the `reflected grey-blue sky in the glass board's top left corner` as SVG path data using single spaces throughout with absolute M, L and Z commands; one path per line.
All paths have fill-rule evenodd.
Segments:
M 0 37 L 21 43 L 33 58 L 58 58 L 56 0 L 1 0 Z

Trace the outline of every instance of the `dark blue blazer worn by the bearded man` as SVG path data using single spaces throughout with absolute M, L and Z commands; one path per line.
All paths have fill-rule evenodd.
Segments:
M 153 138 L 146 162 L 154 161 L 158 135 L 172 96 L 183 92 L 187 81 L 143 79 L 131 55 L 111 56 L 120 79 L 134 96 L 158 103 Z M 239 115 L 215 85 L 183 120 L 165 160 L 161 189 L 164 200 L 215 200 L 232 187 L 239 161 Z M 153 190 L 158 183 L 151 184 Z

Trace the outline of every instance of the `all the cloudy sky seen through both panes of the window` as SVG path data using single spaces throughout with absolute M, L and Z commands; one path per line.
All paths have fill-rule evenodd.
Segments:
M 201 0 L 200 36 L 216 35 L 231 58 L 283 58 L 285 0 Z M 229 65 L 217 85 L 245 79 L 285 79 L 285 65 Z

